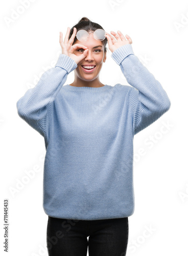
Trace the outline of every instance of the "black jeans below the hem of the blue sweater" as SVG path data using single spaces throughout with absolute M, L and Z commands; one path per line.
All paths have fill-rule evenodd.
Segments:
M 106 220 L 69 220 L 49 216 L 49 256 L 125 256 L 128 244 L 128 217 Z M 88 240 L 87 240 L 87 237 Z

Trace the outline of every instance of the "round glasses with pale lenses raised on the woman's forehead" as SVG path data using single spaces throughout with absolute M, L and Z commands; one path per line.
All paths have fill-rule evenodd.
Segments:
M 76 37 L 79 41 L 84 42 L 89 38 L 89 33 L 93 33 L 93 37 L 98 41 L 103 41 L 106 38 L 106 32 L 103 29 L 97 29 L 95 32 L 87 32 L 84 29 L 81 29 L 77 32 Z

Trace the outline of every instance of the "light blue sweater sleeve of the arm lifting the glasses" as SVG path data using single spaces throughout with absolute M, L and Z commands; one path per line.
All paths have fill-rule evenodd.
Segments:
M 170 109 L 171 101 L 160 82 L 134 55 L 130 44 L 117 48 L 111 55 L 133 86 L 129 105 L 133 117 L 133 134 L 145 129 Z

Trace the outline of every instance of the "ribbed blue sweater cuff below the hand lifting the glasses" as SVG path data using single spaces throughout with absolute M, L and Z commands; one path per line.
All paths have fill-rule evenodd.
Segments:
M 111 57 L 115 60 L 117 65 L 120 65 L 121 62 L 130 54 L 134 55 L 131 44 L 123 45 L 117 48 L 112 52 Z

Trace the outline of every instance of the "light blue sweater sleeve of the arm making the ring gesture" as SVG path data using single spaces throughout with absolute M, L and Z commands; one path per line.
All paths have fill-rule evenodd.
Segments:
M 76 68 L 77 63 L 72 58 L 60 54 L 55 67 L 45 71 L 36 86 L 16 102 L 18 115 L 42 136 L 51 117 L 52 103 L 67 75 Z

